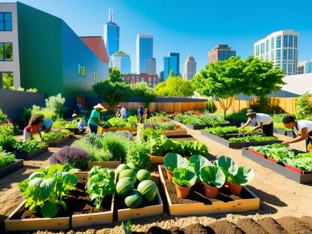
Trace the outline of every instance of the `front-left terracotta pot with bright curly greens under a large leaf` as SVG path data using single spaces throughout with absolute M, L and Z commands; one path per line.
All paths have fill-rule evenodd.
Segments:
M 177 189 L 177 196 L 179 198 L 186 198 L 190 193 L 191 187 L 196 182 L 196 174 L 193 167 L 175 168 L 173 170 L 172 182 Z

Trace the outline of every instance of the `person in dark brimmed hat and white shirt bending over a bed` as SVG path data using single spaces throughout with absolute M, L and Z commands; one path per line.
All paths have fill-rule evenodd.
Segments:
M 251 131 L 255 131 L 257 129 L 262 129 L 263 134 L 266 136 L 273 136 L 274 127 L 273 127 L 273 119 L 270 115 L 262 114 L 262 113 L 256 113 L 253 110 L 247 110 L 246 114 L 249 118 L 243 126 L 241 126 L 241 129 L 244 129 L 246 126 L 248 126 L 253 119 L 256 120 L 256 123 L 258 126 L 253 127 L 248 131 L 247 133 Z

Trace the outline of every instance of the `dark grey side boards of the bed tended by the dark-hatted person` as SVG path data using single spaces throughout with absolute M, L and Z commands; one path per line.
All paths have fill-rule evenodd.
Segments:
M 216 141 L 219 144 L 222 144 L 229 148 L 243 148 L 249 146 L 256 146 L 256 145 L 270 145 L 274 143 L 282 143 L 282 140 L 271 140 L 271 141 L 244 141 L 244 142 L 229 142 L 226 139 L 213 135 L 211 133 L 207 133 L 204 130 L 201 130 L 201 134 L 213 141 Z

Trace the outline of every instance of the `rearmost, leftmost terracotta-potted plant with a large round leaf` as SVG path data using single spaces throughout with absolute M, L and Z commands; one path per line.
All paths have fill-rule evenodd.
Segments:
M 168 153 L 163 159 L 163 164 L 165 165 L 168 179 L 172 180 L 173 170 L 179 167 L 187 168 L 188 160 L 183 158 L 180 154 Z

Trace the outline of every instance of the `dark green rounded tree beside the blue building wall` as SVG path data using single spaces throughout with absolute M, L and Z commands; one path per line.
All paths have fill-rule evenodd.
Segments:
M 91 87 L 92 90 L 110 106 L 110 109 L 112 106 L 119 104 L 119 102 L 128 102 L 130 97 L 133 96 L 130 85 L 126 85 L 125 82 L 113 83 L 107 79 L 104 81 L 101 80 Z

